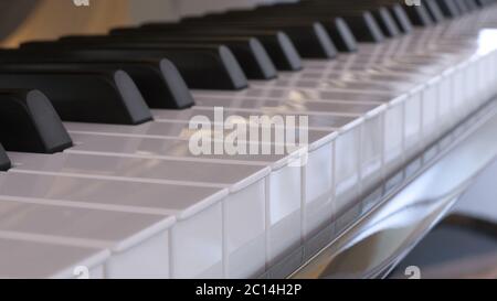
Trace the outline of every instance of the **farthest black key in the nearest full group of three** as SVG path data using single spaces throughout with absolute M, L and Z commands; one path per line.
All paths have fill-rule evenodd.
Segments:
M 292 40 L 282 31 L 266 30 L 233 30 L 229 28 L 182 28 L 173 26 L 165 29 L 163 26 L 145 26 L 140 29 L 120 28 L 110 31 L 110 35 L 140 35 L 140 34 L 160 34 L 160 35 L 202 35 L 205 37 L 232 37 L 232 36 L 254 36 L 263 44 L 271 60 L 278 71 L 300 71 L 302 57 L 297 53 Z

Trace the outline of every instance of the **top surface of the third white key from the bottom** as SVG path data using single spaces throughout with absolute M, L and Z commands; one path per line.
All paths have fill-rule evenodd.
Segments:
M 30 189 L 27 190 L 25 186 Z M 102 176 L 15 172 L 0 174 L 0 195 L 40 198 L 92 209 L 144 214 L 171 214 L 177 219 L 194 216 L 228 196 L 228 189 L 194 184 L 108 180 Z

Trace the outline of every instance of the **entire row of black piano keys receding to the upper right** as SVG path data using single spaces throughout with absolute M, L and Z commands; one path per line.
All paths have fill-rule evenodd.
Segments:
M 356 39 L 380 42 L 493 2 L 303 1 L 27 43 L 0 51 L 0 139 L 10 151 L 59 152 L 72 146 L 60 118 L 142 123 L 149 107 L 194 105 L 189 88 L 243 89 L 299 71 L 300 56 L 332 58 L 356 51 Z M 9 166 L 0 148 L 0 169 Z

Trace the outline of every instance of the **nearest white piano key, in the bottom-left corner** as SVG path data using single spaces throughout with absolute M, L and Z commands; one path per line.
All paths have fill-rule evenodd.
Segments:
M 104 278 L 107 249 L 0 234 L 0 279 Z

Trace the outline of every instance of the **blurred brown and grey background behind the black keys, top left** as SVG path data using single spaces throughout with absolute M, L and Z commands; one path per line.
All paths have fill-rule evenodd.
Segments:
M 28 40 L 63 34 L 105 33 L 108 29 L 147 21 L 179 20 L 186 15 L 251 8 L 261 3 L 298 0 L 89 0 L 76 7 L 73 0 L 0 1 L 0 43 L 17 46 Z

